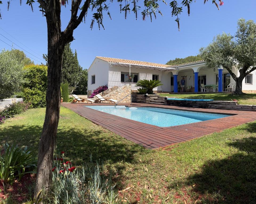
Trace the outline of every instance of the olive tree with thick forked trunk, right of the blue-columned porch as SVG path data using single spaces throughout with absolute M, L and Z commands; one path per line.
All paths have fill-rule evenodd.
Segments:
M 238 20 L 235 36 L 223 33 L 214 37 L 200 54 L 209 67 L 222 66 L 235 80 L 235 93 L 242 94 L 242 81 L 247 74 L 256 70 L 256 23 L 253 20 Z M 239 70 L 237 76 L 232 67 Z

